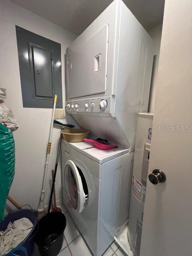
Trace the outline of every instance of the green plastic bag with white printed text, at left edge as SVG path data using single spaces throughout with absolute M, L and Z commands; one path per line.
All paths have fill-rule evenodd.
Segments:
M 0 221 L 15 174 L 15 143 L 10 129 L 0 123 Z

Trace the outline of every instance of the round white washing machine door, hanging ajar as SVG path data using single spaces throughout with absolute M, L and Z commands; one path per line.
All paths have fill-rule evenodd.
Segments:
M 81 177 L 81 170 L 78 169 L 72 160 L 68 160 L 64 166 L 64 182 L 71 206 L 81 213 L 88 195 L 84 192 L 84 177 Z

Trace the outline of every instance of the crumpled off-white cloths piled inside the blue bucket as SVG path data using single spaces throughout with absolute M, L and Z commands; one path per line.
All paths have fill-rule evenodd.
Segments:
M 28 218 L 9 222 L 5 231 L 0 231 L 0 256 L 18 246 L 31 232 L 32 222 Z

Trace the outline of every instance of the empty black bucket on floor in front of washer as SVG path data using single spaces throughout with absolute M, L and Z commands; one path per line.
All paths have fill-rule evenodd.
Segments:
M 50 212 L 38 222 L 35 242 L 42 256 L 56 256 L 63 244 L 66 218 L 62 212 Z

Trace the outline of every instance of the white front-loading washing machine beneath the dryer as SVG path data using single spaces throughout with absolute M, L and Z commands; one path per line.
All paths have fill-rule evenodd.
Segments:
M 133 152 L 62 141 L 63 200 L 94 256 L 128 219 Z

